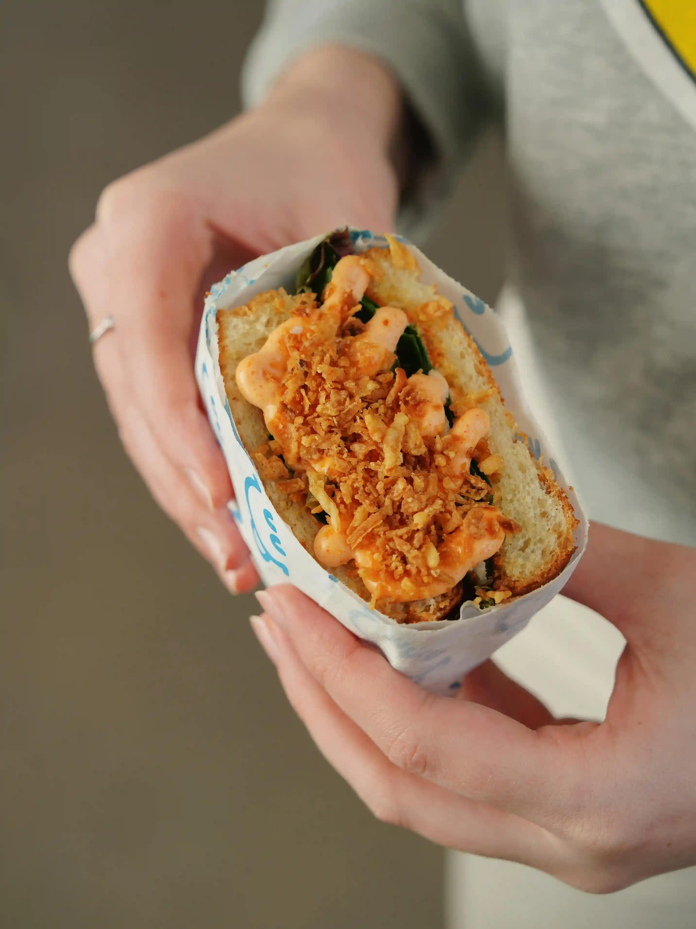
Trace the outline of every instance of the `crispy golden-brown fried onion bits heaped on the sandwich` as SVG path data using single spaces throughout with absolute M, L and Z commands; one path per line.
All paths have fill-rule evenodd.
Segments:
M 360 326 L 345 320 L 327 331 L 321 309 L 316 316 L 309 310 L 302 327 L 286 328 L 285 373 L 267 419 L 273 439 L 255 457 L 263 476 L 292 500 L 326 514 L 324 557 L 315 546 L 323 564 L 347 564 L 354 553 L 369 552 L 356 559 L 357 570 L 372 605 L 382 608 L 452 589 L 463 576 L 452 570 L 452 552 L 462 551 L 468 527 L 485 523 L 489 548 L 495 537 L 497 551 L 505 533 L 519 526 L 491 505 L 495 472 L 503 463 L 489 450 L 487 426 L 480 427 L 487 414 L 469 411 L 468 422 L 465 412 L 448 435 L 428 434 L 432 430 L 422 430 L 414 413 L 405 374 L 389 370 L 393 353 L 377 373 L 361 370 L 360 353 L 351 349 L 360 333 Z M 467 440 L 474 445 L 457 445 L 458 434 L 473 436 Z M 472 458 L 486 463 L 480 473 L 491 476 L 492 486 L 469 473 Z M 469 518 L 463 530 L 477 507 L 485 519 L 482 510 L 481 519 Z M 446 564 L 440 557 L 445 551 Z

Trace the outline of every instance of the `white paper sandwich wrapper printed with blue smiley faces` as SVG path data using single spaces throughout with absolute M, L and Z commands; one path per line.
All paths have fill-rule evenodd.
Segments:
M 367 230 L 350 229 L 350 237 L 357 253 L 374 245 L 387 247 L 384 238 Z M 421 280 L 436 284 L 440 294 L 452 301 L 456 315 L 492 369 L 506 408 L 515 416 L 520 431 L 526 434 L 532 455 L 536 459 L 544 455 L 545 464 L 552 468 L 558 483 L 568 494 L 575 516 L 580 520 L 575 530 L 577 548 L 558 577 L 531 594 L 484 610 L 464 604 L 459 620 L 413 625 L 400 625 L 376 609 L 370 609 L 305 551 L 270 503 L 237 432 L 218 363 L 216 312 L 243 306 L 256 294 L 278 287 L 293 293 L 297 270 L 322 238 L 317 236 L 289 245 L 231 271 L 212 288 L 205 301 L 195 372 L 211 425 L 230 470 L 236 498 L 230 510 L 266 586 L 295 584 L 352 633 L 374 643 L 401 674 L 433 693 L 453 694 L 461 686 L 464 674 L 524 629 L 534 613 L 545 607 L 568 581 L 584 552 L 587 519 L 522 398 L 512 348 L 502 321 L 490 307 L 448 277 L 414 245 L 397 237 L 414 253 L 422 268 Z

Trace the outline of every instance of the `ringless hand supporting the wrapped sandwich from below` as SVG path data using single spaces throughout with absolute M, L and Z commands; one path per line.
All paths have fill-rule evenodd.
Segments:
M 555 720 L 492 661 L 434 697 L 287 585 L 253 624 L 377 818 L 595 893 L 696 863 L 696 550 L 593 525 L 564 593 L 624 634 L 606 720 Z

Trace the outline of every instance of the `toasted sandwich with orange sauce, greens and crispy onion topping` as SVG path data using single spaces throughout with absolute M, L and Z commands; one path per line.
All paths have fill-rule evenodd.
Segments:
M 396 622 L 456 620 L 555 578 L 577 520 L 452 303 L 386 240 L 332 233 L 294 293 L 218 309 L 220 373 L 309 554 Z

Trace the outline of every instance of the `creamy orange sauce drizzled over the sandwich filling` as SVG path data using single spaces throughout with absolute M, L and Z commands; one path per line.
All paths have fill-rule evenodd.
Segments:
M 295 352 L 295 360 L 298 351 L 302 359 L 306 357 L 302 355 L 303 346 L 311 345 L 312 339 L 315 343 L 317 338 L 337 339 L 346 320 L 356 310 L 356 305 L 369 281 L 369 274 L 358 255 L 342 258 L 336 264 L 332 281 L 324 291 L 322 306 L 311 310 L 306 316 L 293 317 L 278 326 L 259 351 L 240 362 L 236 378 L 243 397 L 263 411 L 269 431 L 282 447 L 286 464 L 295 471 L 304 470 L 309 480 L 309 491 L 328 515 L 328 524 L 319 530 L 314 542 L 314 555 L 317 560 L 328 569 L 354 560 L 362 581 L 373 595 L 373 600 L 388 597 L 392 601 L 404 603 L 437 596 L 451 590 L 479 562 L 494 555 L 505 540 L 505 530 L 501 526 L 504 517 L 494 506 L 477 504 L 466 512 L 464 519 L 458 517 L 458 528 L 443 534 L 437 547 L 434 543 L 437 539 L 432 535 L 434 530 L 431 528 L 431 535 L 418 543 L 419 557 L 426 566 L 423 568 L 426 571 L 423 575 L 425 581 L 417 572 L 404 574 L 401 571 L 401 576 L 397 577 L 382 563 L 382 555 L 374 550 L 370 532 L 361 535 L 362 527 L 370 518 L 379 520 L 380 514 L 373 512 L 371 517 L 365 518 L 370 511 L 361 515 L 360 510 L 364 507 L 361 507 L 358 501 L 351 503 L 349 497 L 347 501 L 343 501 L 339 512 L 336 494 L 346 476 L 347 468 L 350 470 L 351 465 L 347 464 L 345 458 L 328 453 L 323 457 L 314 455 L 309 459 L 309 464 L 303 460 L 304 452 L 300 453 L 299 457 L 294 457 L 291 450 L 283 444 L 283 437 L 288 428 L 288 412 L 286 407 L 281 406 L 281 398 L 290 376 L 291 351 Z M 407 323 L 406 314 L 398 307 L 379 307 L 360 334 L 345 337 L 341 341 L 341 351 L 345 351 L 345 362 L 338 359 L 332 363 L 348 364 L 351 377 L 356 378 L 357 374 L 360 374 L 365 380 L 378 377 L 380 372 L 388 372 L 397 343 Z M 366 428 L 370 437 L 382 447 L 383 464 L 380 467 L 384 468 L 385 478 L 388 478 L 391 470 L 401 464 L 402 443 L 406 443 L 403 445 L 406 448 L 409 441 L 414 442 L 417 439 L 412 448 L 420 442 L 422 451 L 417 451 L 416 448 L 416 451 L 411 453 L 420 455 L 427 451 L 423 440 L 428 439 L 431 440 L 430 446 L 433 442 L 441 443 L 437 447 L 441 448 L 440 458 L 445 459 L 446 464 L 438 465 L 439 471 L 434 471 L 430 478 L 435 479 L 436 488 L 440 486 L 440 491 L 446 493 L 447 491 L 442 490 L 443 482 L 447 488 L 447 480 L 453 480 L 456 485 L 457 481 L 461 484 L 467 478 L 473 451 L 479 441 L 488 435 L 491 426 L 488 413 L 481 408 L 466 411 L 455 421 L 448 434 L 444 403 L 450 391 L 447 381 L 440 373 L 434 370 L 427 375 L 415 373 L 406 380 L 403 371 L 399 370 L 393 383 L 392 389 L 397 391 L 399 396 L 402 392 L 400 412 L 391 412 L 389 415 L 393 418 L 387 419 L 387 422 L 381 418 L 381 413 L 365 410 L 362 414 L 363 428 Z M 375 383 L 375 386 L 379 385 Z M 284 402 L 289 401 L 286 399 Z M 387 404 L 388 402 L 387 398 Z M 382 409 L 380 407 L 380 410 Z M 393 407 L 391 409 L 393 410 Z M 289 422 L 292 425 L 292 417 Z M 408 432 L 408 429 L 413 428 L 416 430 L 415 438 Z M 350 431 L 351 427 L 348 425 L 348 434 Z M 320 438 L 321 436 L 322 433 Z M 295 455 L 296 448 L 295 446 Z M 339 454 L 345 452 L 339 450 Z M 500 470 L 502 459 L 500 455 L 490 455 L 483 464 L 488 470 L 482 473 L 492 474 Z M 330 494 L 325 490 L 324 479 L 335 482 Z M 391 478 L 392 484 L 395 479 Z M 480 491 L 475 499 L 481 499 Z M 398 505 L 401 507 L 401 504 Z M 392 506 L 390 502 L 389 506 Z M 393 510 L 388 509 L 387 512 L 391 513 Z M 414 513 L 413 517 L 407 518 L 411 520 L 414 531 L 427 530 L 432 521 L 432 516 L 428 517 L 423 513 Z M 349 537 L 353 540 L 352 544 L 348 543 Z

